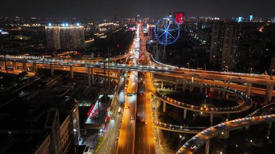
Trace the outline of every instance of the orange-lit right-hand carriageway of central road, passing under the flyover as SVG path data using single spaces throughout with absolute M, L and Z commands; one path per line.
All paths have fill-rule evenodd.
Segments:
M 141 55 L 139 61 L 144 65 L 147 64 L 145 51 L 145 39 L 141 36 Z M 153 131 L 153 117 L 151 110 L 150 91 L 146 87 L 148 84 L 147 78 L 149 74 L 139 72 L 137 84 L 137 103 L 136 111 L 140 113 L 140 116 L 136 118 L 135 124 L 135 143 L 134 153 L 136 154 L 153 154 L 155 150 L 155 140 Z M 147 120 L 147 124 L 141 122 L 141 118 Z

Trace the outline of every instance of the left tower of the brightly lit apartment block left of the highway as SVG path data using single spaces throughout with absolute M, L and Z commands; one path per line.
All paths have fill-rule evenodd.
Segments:
M 46 26 L 46 41 L 48 49 L 60 49 L 60 27 Z

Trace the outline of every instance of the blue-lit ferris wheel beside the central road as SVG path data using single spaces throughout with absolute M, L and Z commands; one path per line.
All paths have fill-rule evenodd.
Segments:
M 171 17 L 164 17 L 157 21 L 155 36 L 162 45 L 175 43 L 179 38 L 179 24 Z

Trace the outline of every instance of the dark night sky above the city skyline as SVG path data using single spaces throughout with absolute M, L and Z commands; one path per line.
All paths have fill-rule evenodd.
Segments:
M 274 17 L 274 0 L 2 0 L 0 16 L 21 17 Z

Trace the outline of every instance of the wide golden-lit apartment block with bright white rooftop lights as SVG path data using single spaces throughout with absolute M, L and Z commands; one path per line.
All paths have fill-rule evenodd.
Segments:
M 85 34 L 84 27 L 79 26 L 47 26 L 46 37 L 48 49 L 84 49 Z

